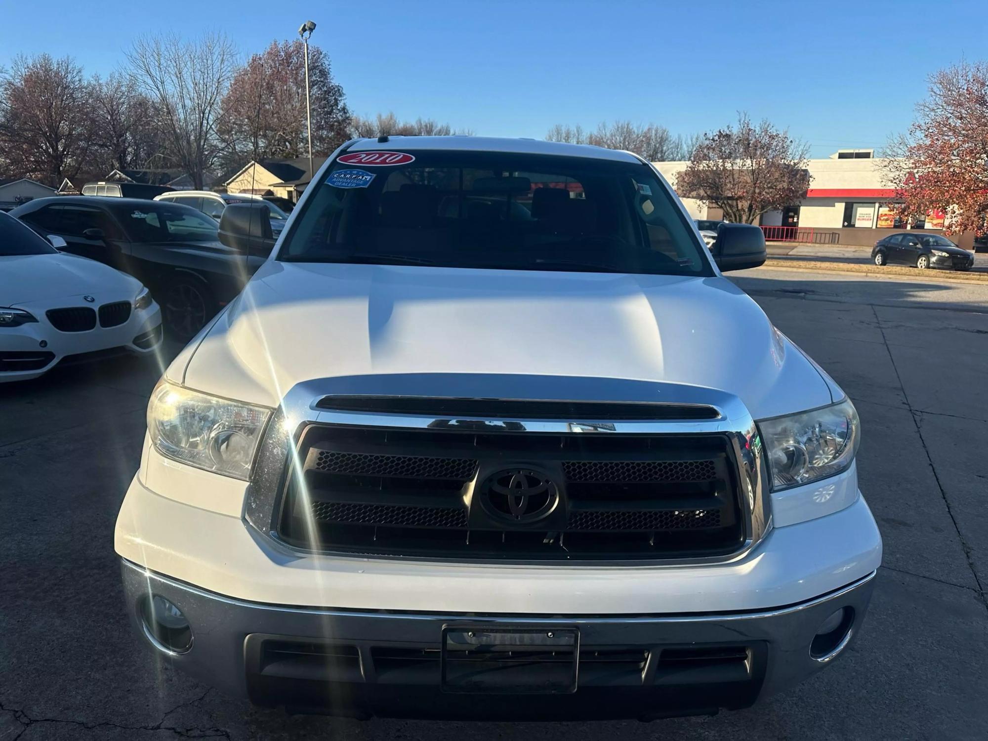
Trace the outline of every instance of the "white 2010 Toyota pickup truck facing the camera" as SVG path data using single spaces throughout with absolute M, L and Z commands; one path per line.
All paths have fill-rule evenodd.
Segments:
M 225 244 L 271 244 L 227 206 Z M 858 633 L 881 538 L 858 415 L 648 162 L 348 142 L 175 359 L 117 521 L 127 610 L 291 711 L 746 707 Z

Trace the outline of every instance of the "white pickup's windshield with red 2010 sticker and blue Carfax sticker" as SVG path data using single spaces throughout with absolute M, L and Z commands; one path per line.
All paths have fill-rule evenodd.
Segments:
M 683 212 L 643 163 L 448 151 L 399 159 L 335 162 L 279 259 L 712 275 Z

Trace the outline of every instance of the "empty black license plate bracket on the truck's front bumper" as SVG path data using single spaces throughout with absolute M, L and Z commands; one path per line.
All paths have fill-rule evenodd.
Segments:
M 575 693 L 580 631 L 564 627 L 446 625 L 440 666 L 448 693 Z

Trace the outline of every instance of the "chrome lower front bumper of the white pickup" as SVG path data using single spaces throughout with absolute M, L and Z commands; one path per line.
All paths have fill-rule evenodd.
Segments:
M 136 629 L 176 667 L 229 695 L 293 711 L 456 719 L 651 719 L 749 706 L 821 670 L 847 648 L 864 619 L 874 577 L 871 572 L 814 600 L 751 613 L 476 616 L 252 603 L 125 559 L 122 564 Z M 193 641 L 187 652 L 168 651 L 145 626 L 141 605 L 151 594 L 188 618 Z M 816 631 L 841 608 L 853 616 L 843 639 L 813 658 Z M 441 636 L 444 627 L 457 625 L 577 630 L 576 691 L 445 692 Z

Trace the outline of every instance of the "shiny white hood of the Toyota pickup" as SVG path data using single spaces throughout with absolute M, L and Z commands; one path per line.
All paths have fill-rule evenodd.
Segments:
M 277 406 L 299 382 L 391 373 L 684 383 L 733 393 L 756 419 L 832 400 L 721 277 L 269 261 L 167 374 Z

